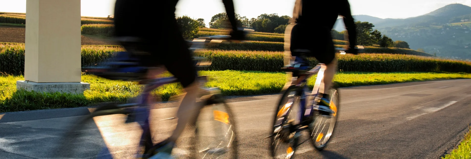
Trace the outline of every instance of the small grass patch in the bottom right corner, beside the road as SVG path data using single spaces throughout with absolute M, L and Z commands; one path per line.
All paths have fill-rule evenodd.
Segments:
M 458 148 L 445 155 L 442 159 L 471 159 L 471 127 Z

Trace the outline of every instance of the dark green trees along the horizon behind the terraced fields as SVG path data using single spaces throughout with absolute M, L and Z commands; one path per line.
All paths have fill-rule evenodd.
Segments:
M 261 14 L 257 18 L 248 19 L 246 16 L 235 14 L 237 26 L 249 27 L 256 32 L 284 33 L 290 16 L 278 16 L 277 14 Z M 198 32 L 198 28 L 206 27 L 203 18 L 192 19 L 189 16 L 177 17 L 183 36 L 191 39 Z M 369 22 L 355 22 L 357 26 L 357 44 L 362 46 L 379 45 L 385 48 L 409 48 L 406 41 L 393 41 L 390 37 L 382 35 L 378 30 L 373 30 L 374 24 Z M 219 13 L 211 17 L 209 27 L 214 29 L 231 28 L 226 13 Z M 347 31 L 338 32 L 332 30 L 332 38 L 335 40 L 348 40 Z

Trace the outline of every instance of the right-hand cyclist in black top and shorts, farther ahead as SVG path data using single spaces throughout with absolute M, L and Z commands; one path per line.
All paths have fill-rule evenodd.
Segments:
M 343 22 L 348 32 L 349 45 L 346 52 L 357 55 L 358 50 L 355 48 L 357 45 L 356 25 L 350 13 L 348 0 L 296 0 L 293 17 L 284 33 L 285 67 L 307 68 L 309 61 L 306 57 L 316 57 L 319 63 L 326 65 L 324 90 L 330 89 L 333 75 L 337 71 L 337 59 L 335 58 L 331 31 L 339 15 L 343 16 Z M 295 56 L 293 64 L 289 64 L 291 56 Z M 290 74 L 288 74 L 289 76 Z M 292 74 L 292 76 L 298 77 L 296 84 L 305 78 L 302 74 Z M 330 96 L 321 91 L 319 93 L 322 98 L 319 105 L 326 106 L 330 110 Z

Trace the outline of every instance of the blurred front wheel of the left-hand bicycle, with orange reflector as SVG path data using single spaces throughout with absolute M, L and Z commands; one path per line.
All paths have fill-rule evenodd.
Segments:
M 205 97 L 203 97 L 205 98 Z M 196 159 L 237 159 L 238 140 L 234 114 L 221 95 L 208 95 L 195 120 Z

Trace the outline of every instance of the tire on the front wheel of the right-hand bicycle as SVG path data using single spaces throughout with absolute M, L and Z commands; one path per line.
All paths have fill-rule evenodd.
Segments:
M 331 109 L 333 109 L 335 111 L 335 114 L 331 115 L 331 116 L 333 116 L 333 118 L 331 118 L 331 119 L 334 119 L 334 122 L 332 123 L 333 124 L 332 130 L 331 130 L 332 132 L 330 132 L 330 134 L 327 133 L 326 135 L 324 135 L 324 134 L 320 135 L 320 133 L 314 133 L 314 131 L 317 132 L 317 130 L 315 129 L 315 127 L 317 127 L 316 122 L 319 121 L 319 118 L 322 117 L 319 113 L 317 113 L 315 115 L 312 123 L 309 125 L 309 133 L 310 133 L 310 140 L 309 141 L 311 142 L 312 146 L 314 148 L 316 148 L 317 151 L 322 151 L 327 147 L 328 143 L 331 141 L 333 135 L 335 134 L 335 128 L 336 128 L 336 125 L 337 125 L 337 121 L 339 119 L 340 94 L 339 94 L 339 91 L 338 91 L 338 87 L 333 86 L 329 91 L 330 91 L 329 94 L 331 95 L 331 98 L 330 98 L 331 99 Z M 334 93 L 332 93 L 332 92 L 334 92 Z M 334 101 L 336 101 L 336 102 L 334 102 Z M 329 131 L 330 130 L 328 130 L 327 132 L 329 132 Z M 325 136 L 328 136 L 328 138 L 326 140 L 325 140 Z M 317 142 L 320 142 L 320 140 L 322 140 L 322 139 L 325 140 L 325 143 L 317 145 Z

